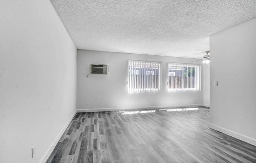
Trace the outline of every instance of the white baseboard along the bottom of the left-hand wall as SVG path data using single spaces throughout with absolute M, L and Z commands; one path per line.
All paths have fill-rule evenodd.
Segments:
M 40 159 L 39 163 L 45 163 L 47 161 L 47 159 L 49 158 L 49 156 L 51 155 L 51 152 L 53 152 L 53 149 L 55 148 L 55 146 L 57 145 L 57 143 L 59 142 L 61 136 L 63 135 L 63 133 L 65 132 L 65 130 L 68 128 L 69 123 L 72 121 L 72 119 L 74 118 L 75 114 L 77 112 L 75 111 L 72 116 L 69 118 L 69 120 L 67 121 L 67 123 L 64 125 L 64 127 L 62 127 L 62 129 L 60 130 L 59 134 L 57 135 L 57 137 L 53 140 L 53 142 L 51 143 L 50 147 L 48 148 L 48 150 L 45 152 L 45 154 L 42 156 L 42 158 Z

